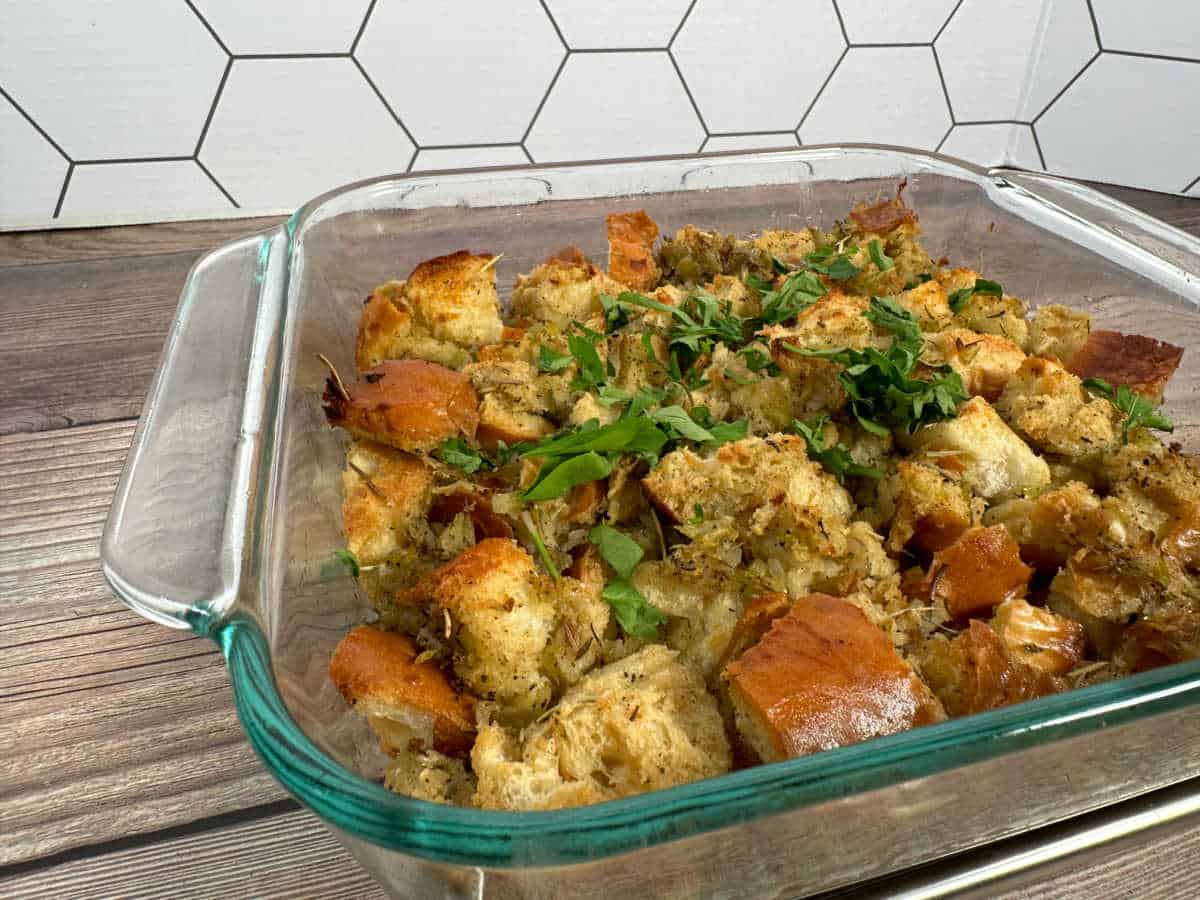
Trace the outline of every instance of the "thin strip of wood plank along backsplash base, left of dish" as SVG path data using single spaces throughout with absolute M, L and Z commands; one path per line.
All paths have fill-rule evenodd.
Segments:
M 42 263 L 78 263 L 113 257 L 144 257 L 179 251 L 203 252 L 264 228 L 286 216 L 164 222 L 110 228 L 64 228 L 0 234 L 0 269 Z

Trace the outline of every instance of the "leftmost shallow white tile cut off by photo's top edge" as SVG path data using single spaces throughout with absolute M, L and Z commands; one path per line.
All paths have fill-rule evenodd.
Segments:
M 371 0 L 192 0 L 230 53 L 347 53 Z

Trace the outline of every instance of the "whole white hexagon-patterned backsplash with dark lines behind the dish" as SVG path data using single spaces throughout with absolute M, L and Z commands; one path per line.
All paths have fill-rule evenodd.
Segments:
M 798 142 L 1200 196 L 1200 2 L 0 0 L 0 228 Z

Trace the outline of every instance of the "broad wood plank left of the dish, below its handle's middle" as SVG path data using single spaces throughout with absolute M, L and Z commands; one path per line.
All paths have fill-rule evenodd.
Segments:
M 0 864 L 286 796 L 214 644 L 126 610 L 100 574 L 133 425 L 0 437 Z

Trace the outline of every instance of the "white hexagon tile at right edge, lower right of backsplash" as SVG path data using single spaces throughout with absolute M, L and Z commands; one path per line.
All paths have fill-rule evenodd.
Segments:
M 1038 121 L 1046 168 L 1182 191 L 1196 176 L 1200 65 L 1103 54 Z

